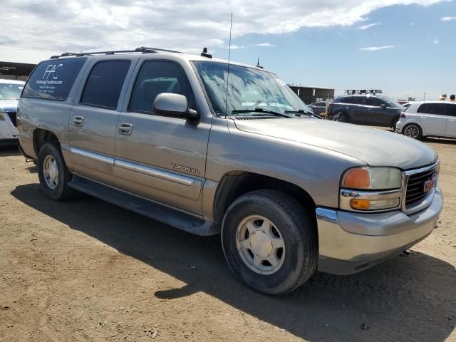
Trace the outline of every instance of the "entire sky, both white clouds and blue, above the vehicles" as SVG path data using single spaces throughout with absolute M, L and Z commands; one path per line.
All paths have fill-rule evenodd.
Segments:
M 261 64 L 287 83 L 380 88 L 392 98 L 456 93 L 456 0 L 2 0 L 0 46 L 138 46 Z M 447 17 L 452 20 L 442 21 Z M 22 23 L 18 25 L 18 23 Z M 364 28 L 364 29 L 361 29 Z M 262 45 L 262 46 L 261 46 Z

